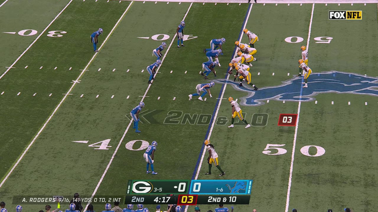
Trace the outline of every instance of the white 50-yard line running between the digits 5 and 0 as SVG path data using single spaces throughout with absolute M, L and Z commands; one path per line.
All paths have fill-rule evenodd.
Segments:
M 308 26 L 308 35 L 307 35 L 307 45 L 306 45 L 306 49 L 307 50 L 308 50 L 308 43 L 310 42 L 310 36 L 311 36 L 311 26 L 312 26 L 312 18 L 314 16 L 314 6 L 315 6 L 315 4 L 312 4 L 310 25 Z M 301 98 L 301 95 L 300 95 L 299 98 Z M 300 113 L 301 113 L 301 101 L 298 102 L 298 110 L 297 110 L 298 116 L 297 116 L 297 122 L 296 122 L 296 125 L 295 125 L 294 140 L 293 140 L 293 149 L 291 150 L 290 173 L 289 173 L 289 182 L 288 182 L 288 185 L 287 185 L 285 212 L 288 212 L 288 210 L 289 210 L 291 178 L 293 177 L 294 154 L 295 154 L 295 145 L 297 143 L 298 123 L 299 123 L 299 114 Z

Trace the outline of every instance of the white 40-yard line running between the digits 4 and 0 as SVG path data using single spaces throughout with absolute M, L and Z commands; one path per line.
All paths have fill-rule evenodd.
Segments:
M 130 5 L 131 5 L 131 3 L 130 3 Z M 191 4 L 189 5 L 189 8 L 187 9 L 187 11 L 186 11 L 186 13 L 185 13 L 185 15 L 184 15 L 183 20 L 185 20 L 185 18 L 186 18 L 186 16 L 187 16 L 187 14 L 188 14 L 190 8 L 192 7 L 192 5 L 193 5 L 193 3 L 191 3 Z M 158 71 L 159 71 L 160 67 L 163 65 L 164 59 L 166 58 L 167 53 L 168 53 L 170 47 L 172 46 L 173 42 L 174 42 L 175 39 L 176 39 L 176 36 L 175 36 L 175 35 L 172 36 L 172 37 L 173 37 L 173 38 L 172 38 L 172 41 L 170 42 L 170 44 L 169 44 L 169 46 L 168 46 L 168 48 L 167 48 L 167 51 L 165 52 L 163 58 L 161 59 L 161 65 L 156 69 L 156 73 L 155 73 L 154 77 L 156 77 L 156 75 L 158 74 Z M 146 92 L 144 93 L 144 95 L 143 95 L 141 101 L 143 101 L 144 98 L 147 96 L 147 92 L 150 90 L 151 85 L 152 85 L 152 84 L 148 84 L 148 87 L 147 87 L 147 89 L 146 89 Z M 93 197 L 95 196 L 95 194 L 96 194 L 98 188 L 100 187 L 100 185 L 101 185 L 101 183 L 102 183 L 102 180 L 104 180 L 104 177 L 105 177 L 106 173 L 108 172 L 110 165 L 112 165 L 113 159 L 114 159 L 115 155 L 117 154 L 118 149 L 119 149 L 119 147 L 121 146 L 122 141 L 124 140 L 124 138 L 125 138 L 127 132 L 129 131 L 129 128 L 130 128 L 130 126 L 131 126 L 132 123 L 133 123 L 133 120 L 131 119 L 130 122 L 129 122 L 129 125 L 127 125 L 127 128 L 125 129 L 125 132 L 123 133 L 123 135 L 122 135 L 122 137 L 121 137 L 121 140 L 119 140 L 119 143 L 118 143 L 118 145 L 117 145 L 115 151 L 113 152 L 113 155 L 112 155 L 112 157 L 110 158 L 110 161 L 109 161 L 108 165 L 106 166 L 106 168 L 105 168 L 105 170 L 104 170 L 104 173 L 102 173 L 102 176 L 101 176 L 100 180 L 98 181 L 98 183 L 97 183 L 97 185 L 96 185 L 96 188 L 95 188 L 95 190 L 94 190 L 93 193 L 92 193 L 91 198 L 93 198 Z M 88 207 L 89 204 L 90 204 L 90 203 L 88 203 L 87 206 L 85 206 L 84 211 L 87 210 L 87 207 Z

